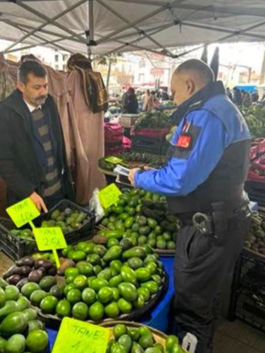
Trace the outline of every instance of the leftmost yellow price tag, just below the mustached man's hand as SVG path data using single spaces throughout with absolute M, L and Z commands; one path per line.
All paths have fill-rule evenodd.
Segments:
M 40 216 L 39 210 L 29 197 L 8 207 L 6 212 L 18 228 Z

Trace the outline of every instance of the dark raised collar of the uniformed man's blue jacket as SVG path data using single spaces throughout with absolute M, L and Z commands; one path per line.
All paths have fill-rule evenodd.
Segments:
M 208 83 L 178 107 L 174 118 L 179 121 L 189 110 L 201 107 L 206 101 L 218 94 L 225 94 L 223 82 L 216 81 Z

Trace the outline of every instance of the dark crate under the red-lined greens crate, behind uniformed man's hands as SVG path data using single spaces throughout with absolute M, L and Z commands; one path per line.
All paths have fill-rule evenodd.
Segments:
M 132 151 L 165 155 L 167 148 L 168 146 L 164 138 L 132 136 Z

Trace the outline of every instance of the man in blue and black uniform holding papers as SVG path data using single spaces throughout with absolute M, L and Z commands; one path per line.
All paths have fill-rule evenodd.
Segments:
M 196 353 L 210 353 L 220 293 L 249 229 L 243 187 L 250 134 L 221 81 L 204 62 L 191 59 L 173 73 L 171 90 L 181 122 L 161 169 L 135 168 L 136 188 L 164 194 L 181 219 L 174 279 L 174 317 L 180 341 L 193 333 Z

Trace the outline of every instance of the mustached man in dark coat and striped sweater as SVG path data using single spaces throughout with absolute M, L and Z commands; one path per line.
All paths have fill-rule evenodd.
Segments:
M 30 197 L 47 212 L 74 196 L 58 111 L 38 61 L 20 65 L 17 90 L 0 104 L 0 176 L 9 205 Z

